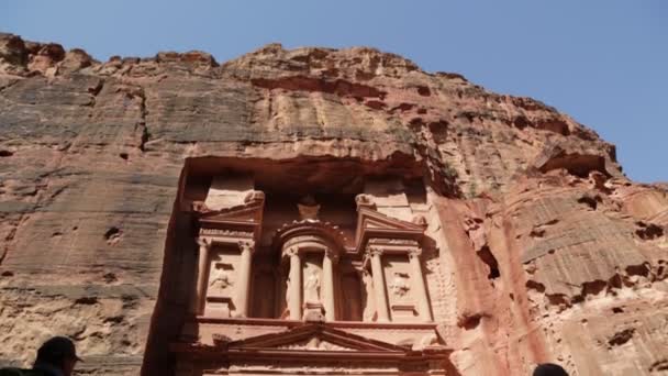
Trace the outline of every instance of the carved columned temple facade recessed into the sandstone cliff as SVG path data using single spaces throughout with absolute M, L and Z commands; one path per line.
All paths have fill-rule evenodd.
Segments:
M 197 263 L 190 314 L 169 345 L 176 375 L 453 368 L 427 288 L 438 277 L 425 262 L 438 265 L 438 250 L 425 234 L 421 180 L 409 190 L 401 177 L 363 176 L 356 196 L 304 185 L 318 202 L 243 169 L 202 190 L 198 173 L 189 169 L 177 204 L 198 246 L 182 251 Z

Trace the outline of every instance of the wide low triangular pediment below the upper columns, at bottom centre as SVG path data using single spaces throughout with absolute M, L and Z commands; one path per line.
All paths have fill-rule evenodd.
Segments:
M 324 324 L 307 324 L 279 333 L 270 333 L 230 342 L 229 349 L 265 349 L 318 352 L 389 352 L 404 353 L 409 349 L 370 340 Z

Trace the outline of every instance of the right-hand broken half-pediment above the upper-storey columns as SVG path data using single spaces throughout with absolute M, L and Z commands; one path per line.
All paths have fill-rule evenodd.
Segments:
M 357 214 L 356 244 L 364 250 L 370 237 L 410 239 L 420 241 L 425 225 L 388 217 L 376 210 L 359 208 Z

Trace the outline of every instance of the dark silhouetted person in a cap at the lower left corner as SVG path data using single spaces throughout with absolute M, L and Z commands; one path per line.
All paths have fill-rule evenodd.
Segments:
M 71 376 L 80 361 L 70 339 L 54 336 L 40 346 L 32 369 L 3 368 L 0 376 Z

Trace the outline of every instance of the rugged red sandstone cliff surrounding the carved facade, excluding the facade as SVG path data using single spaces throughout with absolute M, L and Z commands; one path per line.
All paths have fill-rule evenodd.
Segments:
M 454 374 L 668 369 L 668 190 L 536 100 L 371 48 L 99 63 L 2 34 L 0 109 L 2 364 L 66 334 L 85 373 L 158 374 L 151 343 L 179 319 L 152 314 L 181 303 L 160 285 L 172 204 L 186 159 L 207 157 L 289 166 L 294 189 L 424 177 Z

